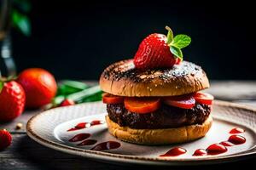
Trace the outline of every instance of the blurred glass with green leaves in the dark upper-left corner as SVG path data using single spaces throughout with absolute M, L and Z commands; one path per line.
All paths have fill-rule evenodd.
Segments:
M 30 36 L 31 25 L 26 14 L 31 10 L 29 0 L 0 0 L 0 77 L 15 76 L 12 57 L 11 28 Z

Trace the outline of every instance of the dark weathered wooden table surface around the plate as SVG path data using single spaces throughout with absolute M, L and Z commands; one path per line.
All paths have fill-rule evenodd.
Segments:
M 207 92 L 213 94 L 216 99 L 230 100 L 243 105 L 256 107 L 256 81 L 212 81 L 212 87 Z M 0 169 L 134 169 L 93 161 L 80 156 L 72 156 L 57 150 L 51 150 L 36 143 L 26 135 L 26 122 L 28 119 L 40 113 L 37 111 L 25 111 L 13 122 L 0 123 L 0 129 L 6 128 L 12 133 L 13 143 L 6 150 L 0 151 Z M 20 122 L 23 127 L 16 130 L 16 124 Z M 256 157 L 231 163 L 221 164 L 221 167 L 230 168 L 248 165 L 254 167 Z M 182 167 L 183 169 L 219 168 L 220 165 Z M 138 167 L 148 169 L 155 167 Z M 181 167 L 169 167 L 180 169 Z

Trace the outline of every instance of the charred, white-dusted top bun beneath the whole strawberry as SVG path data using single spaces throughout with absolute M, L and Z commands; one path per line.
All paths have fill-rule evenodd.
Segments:
M 209 88 L 206 73 L 188 61 L 172 68 L 138 70 L 133 59 L 109 65 L 102 72 L 100 86 L 104 92 L 119 96 L 176 96 Z

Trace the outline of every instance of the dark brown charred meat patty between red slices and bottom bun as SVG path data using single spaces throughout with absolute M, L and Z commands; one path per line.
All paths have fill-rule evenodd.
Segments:
M 109 118 L 121 127 L 135 129 L 158 129 L 202 124 L 210 115 L 211 106 L 196 104 L 191 109 L 161 105 L 160 109 L 147 114 L 138 114 L 125 109 L 124 104 L 108 104 Z

